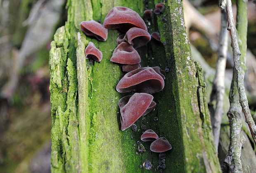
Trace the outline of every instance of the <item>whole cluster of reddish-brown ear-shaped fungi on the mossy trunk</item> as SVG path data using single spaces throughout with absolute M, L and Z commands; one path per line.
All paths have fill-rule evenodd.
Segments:
M 146 19 L 152 19 L 152 12 L 158 15 L 164 12 L 164 4 L 158 3 L 154 10 L 147 9 L 144 12 Z M 162 19 L 166 22 L 166 19 Z M 160 34 L 153 32 L 151 35 L 147 32 L 147 26 L 137 12 L 127 7 L 113 7 L 106 18 L 103 25 L 90 20 L 81 22 L 81 31 L 85 35 L 96 38 L 99 41 L 107 40 L 108 29 L 119 29 L 123 32 L 117 39 L 117 47 L 110 59 L 111 62 L 122 64 L 122 71 L 128 72 L 116 85 L 116 90 L 121 93 L 135 92 L 119 100 L 121 130 L 131 127 L 133 131 L 137 131 L 134 124 L 141 116 L 147 115 L 156 106 L 153 96 L 156 92 L 164 89 L 165 71 L 159 66 L 142 67 L 140 65 L 140 55 L 136 51 L 137 48 L 147 45 L 151 38 L 160 42 Z M 102 52 L 89 42 L 85 48 L 85 56 L 87 59 L 93 59 L 96 62 L 102 60 Z M 166 71 L 167 72 L 167 71 Z M 157 118 L 157 117 L 155 117 Z M 146 126 L 142 127 L 146 130 Z M 153 130 L 146 130 L 141 135 L 142 141 L 151 141 L 150 150 L 152 152 L 166 152 L 171 149 L 171 144 L 165 137 L 159 137 Z M 138 141 L 138 152 L 145 152 L 144 146 Z M 160 158 L 159 155 L 159 158 Z M 149 162 L 150 163 L 150 162 Z M 147 168 L 151 169 L 150 164 Z

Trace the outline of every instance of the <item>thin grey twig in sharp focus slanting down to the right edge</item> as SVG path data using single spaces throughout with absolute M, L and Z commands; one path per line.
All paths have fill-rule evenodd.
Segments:
M 226 10 L 227 10 L 227 19 L 228 19 L 228 29 L 230 30 L 233 58 L 234 58 L 234 64 L 235 64 L 234 66 L 235 81 L 237 83 L 239 102 L 241 104 L 242 111 L 245 116 L 245 120 L 250 128 L 251 136 L 253 137 L 254 144 L 256 145 L 256 126 L 251 116 L 251 112 L 248 106 L 247 96 L 245 94 L 245 89 L 244 89 L 244 71 L 241 68 L 241 62 L 239 59 L 241 53 L 240 53 L 238 41 L 237 41 L 237 30 L 235 28 L 232 7 L 231 7 L 231 0 L 227 1 Z

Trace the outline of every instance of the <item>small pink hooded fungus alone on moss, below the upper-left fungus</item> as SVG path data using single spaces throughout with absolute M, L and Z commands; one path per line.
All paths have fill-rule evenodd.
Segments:
M 88 46 L 85 48 L 86 59 L 94 59 L 97 62 L 102 60 L 102 52 L 95 47 L 92 42 L 89 42 Z

